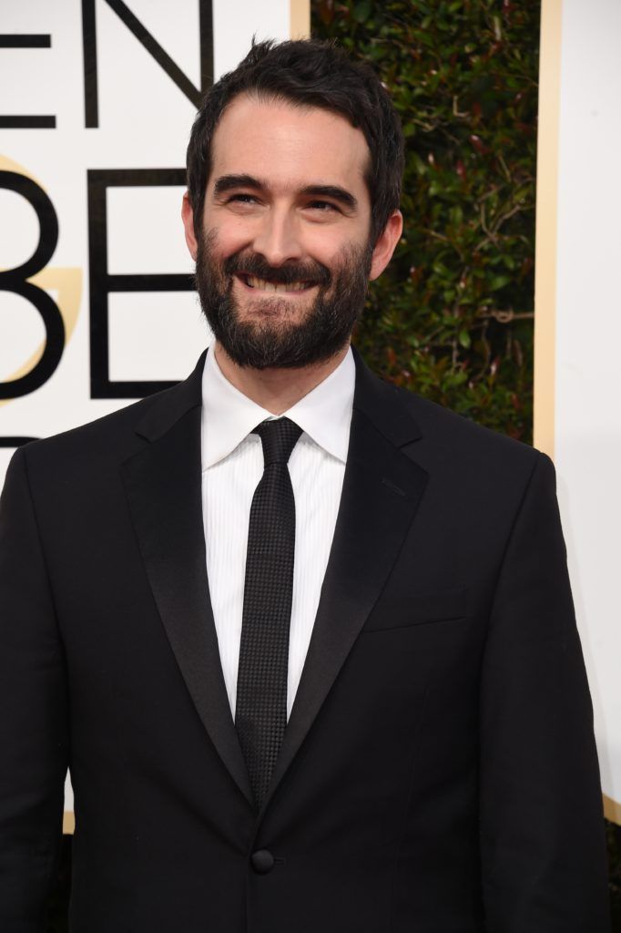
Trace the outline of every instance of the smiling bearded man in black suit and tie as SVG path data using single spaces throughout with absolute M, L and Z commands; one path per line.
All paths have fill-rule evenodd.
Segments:
M 398 121 L 337 49 L 203 104 L 194 373 L 16 453 L 0 927 L 600 933 L 600 788 L 549 460 L 349 348 L 401 234 Z

